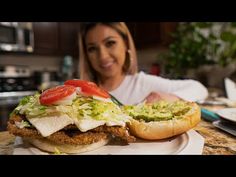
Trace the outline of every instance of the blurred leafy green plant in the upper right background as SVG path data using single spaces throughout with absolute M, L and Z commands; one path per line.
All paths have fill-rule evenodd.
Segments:
M 217 22 L 179 23 L 173 42 L 158 55 L 164 73 L 185 78 L 189 70 L 202 66 L 227 66 L 236 59 L 236 24 Z

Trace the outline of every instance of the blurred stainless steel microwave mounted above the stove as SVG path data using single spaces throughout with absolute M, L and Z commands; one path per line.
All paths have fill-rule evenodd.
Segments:
M 0 22 L 0 50 L 33 52 L 34 33 L 31 22 Z

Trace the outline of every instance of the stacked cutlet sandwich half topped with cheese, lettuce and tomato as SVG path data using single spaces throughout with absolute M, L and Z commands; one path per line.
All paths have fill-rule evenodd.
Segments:
M 43 151 L 75 154 L 134 142 L 126 126 L 130 119 L 95 83 L 68 80 L 24 97 L 7 129 Z

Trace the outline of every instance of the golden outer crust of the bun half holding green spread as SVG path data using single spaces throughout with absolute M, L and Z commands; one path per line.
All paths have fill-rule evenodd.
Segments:
M 131 119 L 128 123 L 130 132 L 136 137 L 147 140 L 165 139 L 182 134 L 195 127 L 201 120 L 200 107 L 194 102 L 189 102 L 189 104 L 192 109 L 181 119 L 151 122 Z

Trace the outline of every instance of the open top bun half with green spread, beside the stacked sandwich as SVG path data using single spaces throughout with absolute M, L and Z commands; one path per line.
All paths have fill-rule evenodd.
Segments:
M 152 104 L 123 106 L 132 117 L 130 132 L 146 140 L 160 140 L 180 135 L 195 127 L 201 120 L 200 107 L 194 102 L 178 100 Z

